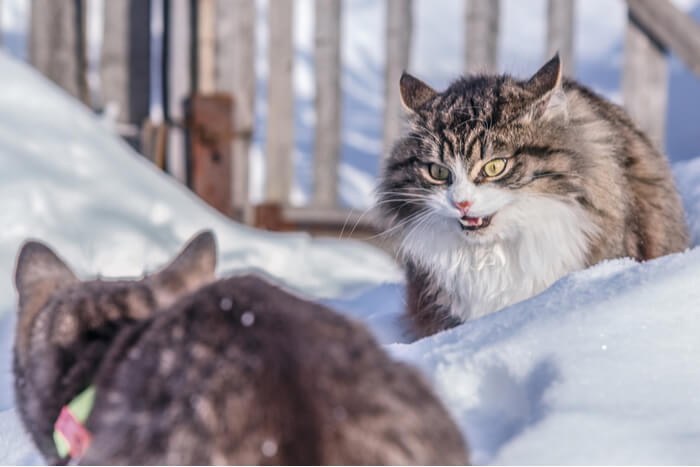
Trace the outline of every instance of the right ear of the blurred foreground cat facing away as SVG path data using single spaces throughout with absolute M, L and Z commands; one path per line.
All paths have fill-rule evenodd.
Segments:
M 158 306 L 163 307 L 212 282 L 215 271 L 216 239 L 211 231 L 206 230 L 195 235 L 175 259 L 148 280 Z

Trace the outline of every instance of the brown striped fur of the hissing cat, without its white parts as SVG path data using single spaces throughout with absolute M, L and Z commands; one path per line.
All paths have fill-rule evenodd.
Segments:
M 446 184 L 429 180 L 427 165 L 459 158 L 477 186 L 493 183 L 582 208 L 598 232 L 590 237 L 586 266 L 619 257 L 643 261 L 688 247 L 666 158 L 621 108 L 562 78 L 558 56 L 529 80 L 469 76 L 444 92 L 404 74 L 401 95 L 410 129 L 383 169 L 377 204 L 383 226 L 399 242 L 426 208 L 420 198 L 445 190 Z M 495 157 L 508 159 L 506 172 L 487 180 L 480 169 Z M 416 334 L 453 326 L 455 320 L 445 319 L 451 306 L 445 284 L 436 283 L 429 268 L 404 260 Z

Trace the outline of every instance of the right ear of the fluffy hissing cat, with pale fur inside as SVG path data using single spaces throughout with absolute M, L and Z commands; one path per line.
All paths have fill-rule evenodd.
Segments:
M 568 101 L 562 86 L 562 64 L 557 52 L 524 85 L 533 96 L 527 118 L 566 119 Z

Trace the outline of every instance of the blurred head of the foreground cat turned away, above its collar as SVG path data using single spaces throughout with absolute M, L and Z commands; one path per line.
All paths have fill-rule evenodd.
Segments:
M 26 242 L 17 257 L 14 345 L 17 407 L 47 462 L 60 408 L 91 384 L 125 326 L 214 280 L 216 242 L 194 237 L 160 271 L 136 280 L 81 281 L 48 246 Z

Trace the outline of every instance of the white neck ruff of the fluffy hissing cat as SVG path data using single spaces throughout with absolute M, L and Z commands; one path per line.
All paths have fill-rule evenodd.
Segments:
M 437 217 L 437 216 L 436 216 Z M 435 228 L 436 223 L 441 223 Z M 571 203 L 523 197 L 499 212 L 489 235 L 470 237 L 452 219 L 408 229 L 401 254 L 426 271 L 462 321 L 524 300 L 586 266 L 596 227 Z

